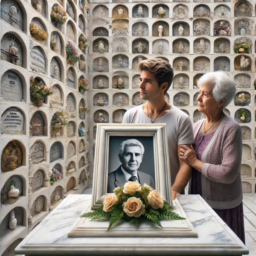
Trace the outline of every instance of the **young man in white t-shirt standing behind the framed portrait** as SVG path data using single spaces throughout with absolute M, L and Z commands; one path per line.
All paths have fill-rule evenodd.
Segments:
M 164 98 L 172 84 L 173 70 L 164 60 L 151 58 L 139 63 L 140 99 L 147 103 L 126 111 L 123 123 L 166 123 L 172 180 L 172 198 L 183 193 L 191 176 L 191 167 L 178 157 L 180 145 L 194 143 L 192 123 L 183 111 Z

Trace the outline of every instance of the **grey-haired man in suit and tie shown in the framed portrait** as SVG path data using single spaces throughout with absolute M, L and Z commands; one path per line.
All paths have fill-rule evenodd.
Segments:
M 116 187 L 124 186 L 128 181 L 140 184 L 146 183 L 154 188 L 154 179 L 138 169 L 143 160 L 144 147 L 139 140 L 125 140 L 119 146 L 118 157 L 121 165 L 108 174 L 108 193 L 113 193 Z

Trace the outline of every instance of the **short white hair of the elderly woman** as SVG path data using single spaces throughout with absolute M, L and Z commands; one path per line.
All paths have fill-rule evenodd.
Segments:
M 212 87 L 212 95 L 217 102 L 221 102 L 225 98 L 222 109 L 226 108 L 236 95 L 235 81 L 223 71 L 204 74 L 198 81 L 200 87 L 202 84 Z

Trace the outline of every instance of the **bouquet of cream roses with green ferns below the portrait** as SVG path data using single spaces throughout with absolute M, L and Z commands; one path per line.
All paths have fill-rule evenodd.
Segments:
M 150 186 L 129 181 L 125 186 L 113 190 L 105 198 L 99 209 L 87 212 L 80 217 L 91 218 L 91 221 L 99 221 L 109 218 L 108 230 L 120 221 L 135 223 L 140 227 L 143 220 L 150 220 L 162 227 L 160 221 L 183 220 L 174 208 L 153 190 Z M 163 228 L 163 227 L 162 227 Z

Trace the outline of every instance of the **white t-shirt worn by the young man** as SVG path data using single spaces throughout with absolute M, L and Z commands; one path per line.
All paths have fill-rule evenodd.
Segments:
M 140 105 L 125 112 L 123 123 L 151 124 L 152 122 L 143 112 L 143 105 Z M 177 145 L 194 143 L 192 123 L 189 116 L 175 106 L 172 106 L 164 116 L 157 118 L 154 123 L 166 123 L 173 184 L 180 169 Z

